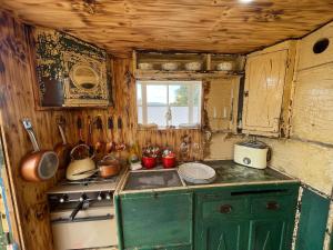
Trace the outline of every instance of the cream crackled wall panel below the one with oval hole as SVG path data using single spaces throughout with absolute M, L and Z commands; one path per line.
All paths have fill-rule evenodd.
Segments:
M 333 144 L 333 64 L 297 73 L 292 137 Z

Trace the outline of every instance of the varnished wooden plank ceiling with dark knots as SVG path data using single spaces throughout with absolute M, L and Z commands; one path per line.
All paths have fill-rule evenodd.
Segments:
M 0 0 L 28 23 L 119 54 L 133 48 L 246 53 L 333 19 L 330 0 Z

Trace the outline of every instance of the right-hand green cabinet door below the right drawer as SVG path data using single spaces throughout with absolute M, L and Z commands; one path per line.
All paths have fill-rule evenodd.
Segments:
M 249 250 L 286 250 L 285 220 L 251 220 Z

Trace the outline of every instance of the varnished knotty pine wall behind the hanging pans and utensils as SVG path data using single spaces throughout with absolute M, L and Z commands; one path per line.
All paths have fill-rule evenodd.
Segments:
M 0 111 L 3 129 L 7 169 L 11 188 L 16 193 L 18 209 L 18 233 L 22 237 L 21 248 L 27 250 L 51 250 L 52 236 L 50 231 L 49 208 L 46 192 L 57 183 L 56 178 L 41 183 L 30 183 L 21 179 L 19 173 L 21 158 L 32 150 L 27 132 L 20 122 L 30 118 L 38 140 L 42 148 L 51 149 L 60 141 L 56 118 L 63 116 L 67 121 L 65 134 L 70 143 L 79 140 L 75 129 L 78 116 L 83 119 L 83 139 L 87 140 L 87 117 L 102 116 L 104 126 L 109 116 L 121 117 L 123 131 L 114 131 L 114 140 L 124 138 L 127 143 L 140 146 L 157 143 L 178 149 L 180 137 L 189 134 L 192 141 L 201 143 L 201 131 L 140 131 L 137 133 L 135 82 L 129 77 L 131 59 L 113 59 L 113 101 L 109 109 L 79 110 L 37 110 L 33 84 L 37 84 L 32 36 L 23 23 L 14 20 L 9 13 L 0 12 Z M 99 133 L 93 130 L 93 141 Z M 104 131 L 105 140 L 110 134 Z M 201 159 L 201 154 L 190 156 Z

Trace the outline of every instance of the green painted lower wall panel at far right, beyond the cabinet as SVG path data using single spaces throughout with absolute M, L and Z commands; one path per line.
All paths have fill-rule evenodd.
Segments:
M 322 250 L 330 200 L 304 188 L 296 250 Z

